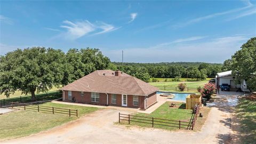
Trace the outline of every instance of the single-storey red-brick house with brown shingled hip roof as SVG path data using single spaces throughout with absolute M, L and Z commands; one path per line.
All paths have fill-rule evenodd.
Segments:
M 147 109 L 157 102 L 158 89 L 116 70 L 96 70 L 62 87 L 62 100 Z

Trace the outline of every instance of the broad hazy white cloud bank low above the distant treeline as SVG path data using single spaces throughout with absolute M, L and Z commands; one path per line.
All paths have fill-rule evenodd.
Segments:
M 186 39 L 186 38 L 184 38 Z M 179 43 L 151 47 L 124 49 L 125 62 L 220 62 L 229 59 L 243 43 L 245 36 L 230 36 L 209 39 L 204 42 Z M 174 41 L 173 41 L 174 42 Z M 102 50 L 111 61 L 121 61 L 121 50 Z

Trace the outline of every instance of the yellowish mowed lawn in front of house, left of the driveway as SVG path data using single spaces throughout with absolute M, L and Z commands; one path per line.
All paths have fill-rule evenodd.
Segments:
M 0 115 L 0 140 L 24 137 L 33 133 L 49 130 L 52 127 L 73 121 L 85 114 L 92 113 L 99 108 L 71 106 L 47 102 L 42 106 L 78 109 L 78 117 L 61 114 L 41 113 L 34 110 L 18 110 Z

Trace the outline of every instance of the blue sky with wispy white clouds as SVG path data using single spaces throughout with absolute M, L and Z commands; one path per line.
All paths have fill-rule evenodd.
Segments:
M 220 62 L 256 36 L 256 1 L 1 1 L 0 54 L 100 49 L 111 61 Z

